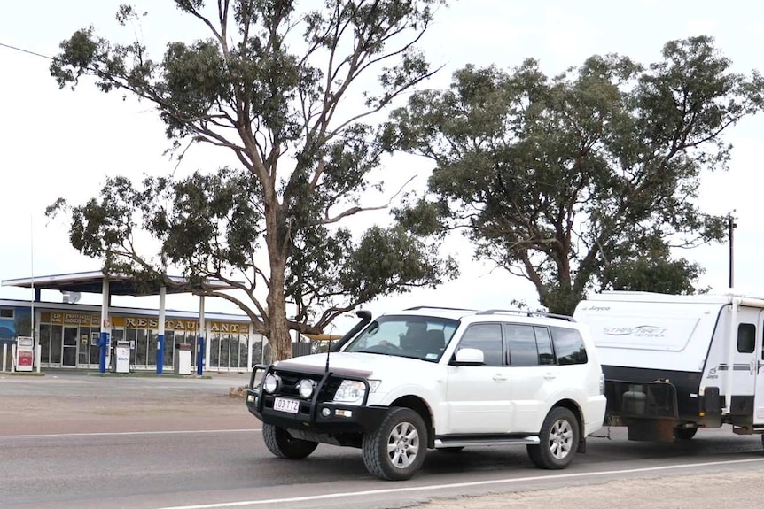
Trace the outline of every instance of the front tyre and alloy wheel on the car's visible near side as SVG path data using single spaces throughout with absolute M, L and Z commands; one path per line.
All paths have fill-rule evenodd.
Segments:
M 375 431 L 363 435 L 363 464 L 386 481 L 417 473 L 427 452 L 425 421 L 409 408 L 391 408 Z

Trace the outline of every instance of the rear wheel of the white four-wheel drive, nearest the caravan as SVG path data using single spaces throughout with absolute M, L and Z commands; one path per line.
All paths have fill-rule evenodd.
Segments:
M 528 458 L 536 467 L 559 470 L 570 465 L 579 441 L 579 424 L 573 412 L 561 406 L 552 408 L 539 439 L 538 445 L 527 446 Z

